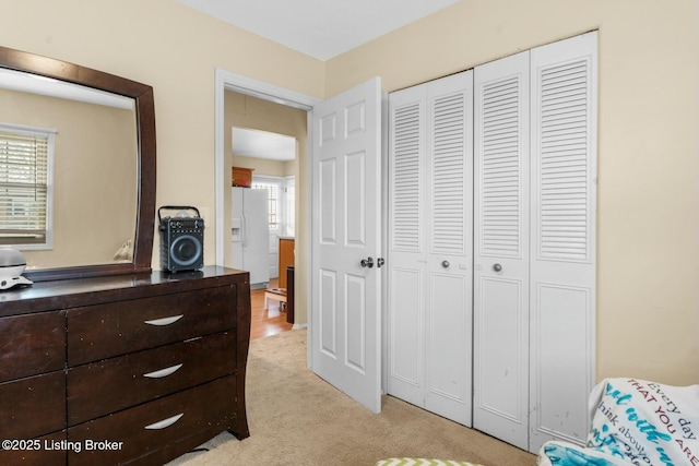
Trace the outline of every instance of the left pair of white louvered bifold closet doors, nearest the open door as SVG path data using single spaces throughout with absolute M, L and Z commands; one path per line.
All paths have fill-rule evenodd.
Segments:
M 391 94 L 388 393 L 472 419 L 471 71 Z

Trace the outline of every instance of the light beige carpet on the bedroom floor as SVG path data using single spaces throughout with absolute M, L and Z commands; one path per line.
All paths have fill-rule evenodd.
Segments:
M 169 466 L 372 466 L 394 456 L 459 459 L 485 466 L 533 466 L 531 455 L 391 396 L 380 414 L 365 409 L 306 366 L 306 331 L 250 344 L 250 437 L 222 433 Z

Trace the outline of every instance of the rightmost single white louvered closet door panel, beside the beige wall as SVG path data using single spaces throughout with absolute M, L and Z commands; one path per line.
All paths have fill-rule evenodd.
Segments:
M 532 63 L 531 449 L 584 444 L 594 385 L 596 33 Z

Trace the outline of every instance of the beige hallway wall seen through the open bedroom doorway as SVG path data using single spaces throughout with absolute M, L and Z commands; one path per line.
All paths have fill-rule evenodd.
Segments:
M 269 131 L 277 134 L 296 138 L 296 159 L 291 162 L 264 160 L 261 158 L 241 157 L 233 154 L 232 128 L 247 128 L 251 130 Z M 308 234 L 306 223 L 308 222 L 307 208 L 308 198 L 306 189 L 308 184 L 308 124 L 307 113 L 297 108 L 286 107 L 269 100 L 247 96 L 235 92 L 225 92 L 224 97 L 224 151 L 226 154 L 225 172 L 230 172 L 230 166 L 244 168 L 254 168 L 254 175 L 272 175 L 277 177 L 294 176 L 295 196 L 295 223 L 296 240 L 294 241 L 296 264 L 294 268 L 295 308 L 294 323 L 307 323 L 308 300 L 306 289 L 308 289 L 308 255 L 306 244 Z M 226 212 L 224 222 L 230 224 L 230 199 L 226 198 Z M 229 229 L 228 229 L 229 230 Z M 226 258 L 233 254 L 230 241 L 225 241 Z

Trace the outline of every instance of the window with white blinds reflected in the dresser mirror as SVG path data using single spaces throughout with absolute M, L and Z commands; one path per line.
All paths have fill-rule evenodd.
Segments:
M 49 238 L 51 131 L 0 127 L 0 244 L 46 244 Z

